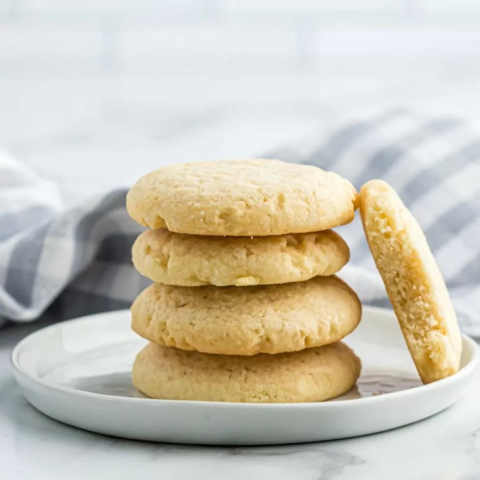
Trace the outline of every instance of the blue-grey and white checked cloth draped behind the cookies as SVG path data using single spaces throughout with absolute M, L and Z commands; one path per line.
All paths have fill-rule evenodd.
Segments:
M 321 140 L 319 140 L 319 138 Z M 409 112 L 348 121 L 267 155 L 337 171 L 357 188 L 382 178 L 429 239 L 461 322 L 480 337 L 480 127 Z M 132 179 L 134 180 L 134 179 Z M 55 186 L 0 158 L 0 317 L 64 320 L 128 307 L 149 284 L 132 267 L 141 231 L 125 191 L 59 211 Z M 361 222 L 339 228 L 351 260 L 340 276 L 365 304 L 389 306 Z

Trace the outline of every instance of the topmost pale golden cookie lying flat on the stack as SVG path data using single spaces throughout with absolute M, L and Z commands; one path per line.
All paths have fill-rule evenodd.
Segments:
M 170 165 L 127 195 L 149 228 L 191 235 L 267 236 L 327 230 L 352 221 L 357 192 L 336 173 L 278 160 Z

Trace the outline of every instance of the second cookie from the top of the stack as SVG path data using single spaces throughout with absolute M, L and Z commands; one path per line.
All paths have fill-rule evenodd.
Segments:
M 335 274 L 349 259 L 333 232 L 274 237 L 206 237 L 147 230 L 136 239 L 136 269 L 166 285 L 271 285 Z

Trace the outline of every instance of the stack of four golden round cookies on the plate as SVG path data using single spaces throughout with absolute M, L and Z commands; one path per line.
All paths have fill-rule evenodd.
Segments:
M 278 160 L 173 165 L 127 197 L 151 230 L 134 243 L 154 281 L 132 305 L 150 343 L 133 383 L 147 396 L 311 402 L 347 392 L 359 359 L 341 339 L 361 304 L 334 274 L 348 246 L 330 230 L 352 221 L 352 184 Z

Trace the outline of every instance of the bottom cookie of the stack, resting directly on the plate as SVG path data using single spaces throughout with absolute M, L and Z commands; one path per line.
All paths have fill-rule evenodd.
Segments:
M 300 352 L 212 355 L 148 344 L 133 365 L 134 385 L 152 398 L 242 403 L 320 402 L 348 392 L 359 358 L 341 341 Z

